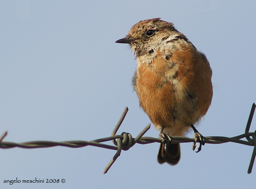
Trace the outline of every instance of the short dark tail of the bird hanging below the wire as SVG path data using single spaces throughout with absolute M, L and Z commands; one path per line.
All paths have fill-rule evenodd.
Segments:
M 165 152 L 164 143 L 161 142 L 157 161 L 159 164 L 167 162 L 170 165 L 176 165 L 180 161 L 180 143 L 169 144 L 167 152 Z

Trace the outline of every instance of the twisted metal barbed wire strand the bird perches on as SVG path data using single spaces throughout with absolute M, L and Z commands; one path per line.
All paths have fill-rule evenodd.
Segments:
M 247 121 L 245 133 L 234 136 L 234 137 L 223 137 L 223 136 L 208 136 L 204 137 L 204 142 L 209 144 L 222 144 L 226 142 L 234 142 L 239 143 L 247 146 L 254 146 L 252 157 L 249 163 L 248 171 L 247 173 L 250 174 L 252 172 L 253 163 L 255 161 L 256 157 L 256 130 L 252 133 L 249 132 L 250 126 L 253 119 L 253 114 L 255 112 L 255 103 L 253 103 L 250 115 Z M 121 155 L 121 151 L 127 151 L 132 146 L 134 146 L 136 143 L 138 144 L 149 144 L 149 143 L 161 143 L 160 138 L 154 138 L 154 137 L 143 137 L 143 135 L 149 130 L 150 124 L 148 124 L 141 132 L 138 134 L 137 137 L 133 138 L 130 133 L 123 132 L 121 135 L 116 135 L 116 132 L 118 131 L 119 127 L 121 126 L 122 122 L 124 121 L 124 118 L 128 112 L 128 107 L 124 109 L 124 112 L 122 113 L 118 123 L 116 124 L 116 127 L 114 128 L 112 134 L 110 137 L 92 140 L 92 141 L 83 141 L 83 140 L 70 140 L 70 141 L 63 141 L 63 142 L 54 142 L 54 141 L 46 141 L 46 140 L 37 140 L 37 141 L 30 141 L 30 142 L 21 142 L 21 143 L 15 143 L 15 142 L 5 142 L 3 141 L 4 137 L 7 135 L 7 131 L 5 131 L 1 137 L 0 137 L 0 148 L 3 149 L 9 149 L 9 148 L 49 148 L 54 146 L 65 146 L 69 148 L 82 148 L 85 146 L 97 146 L 100 148 L 106 148 L 106 149 L 112 149 L 116 150 L 116 154 L 113 156 L 113 158 L 110 160 L 109 164 L 104 169 L 103 173 L 107 173 L 107 171 L 110 169 L 110 167 L 113 165 L 113 163 L 116 161 L 116 159 Z M 252 138 L 251 138 L 252 137 Z M 241 140 L 243 138 L 246 138 L 246 140 Z M 117 140 L 116 140 L 117 139 Z M 195 142 L 194 138 L 188 138 L 183 136 L 171 136 L 172 143 L 188 143 L 188 142 Z M 107 142 L 112 140 L 115 146 L 113 145 L 106 145 L 102 142 Z

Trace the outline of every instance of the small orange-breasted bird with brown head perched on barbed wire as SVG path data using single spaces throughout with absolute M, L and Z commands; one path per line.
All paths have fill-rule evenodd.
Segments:
M 204 137 L 194 125 L 207 113 L 213 97 L 212 70 L 205 54 L 161 18 L 138 22 L 116 43 L 129 44 L 137 59 L 132 86 L 140 107 L 160 131 L 158 162 L 180 161 L 180 143 L 171 143 L 171 136 L 185 136 L 190 127 L 195 133 L 192 149 L 199 142 L 199 152 Z

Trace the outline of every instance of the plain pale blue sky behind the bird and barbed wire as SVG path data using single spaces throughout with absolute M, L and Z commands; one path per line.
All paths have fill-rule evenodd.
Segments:
M 4 141 L 94 140 L 111 135 L 125 106 L 118 134 L 136 137 L 147 124 L 132 91 L 136 61 L 125 37 L 150 18 L 173 22 L 207 56 L 213 100 L 197 127 L 203 136 L 244 133 L 256 102 L 256 1 L 0 1 L 0 133 Z M 250 131 L 256 129 L 255 119 Z M 144 136 L 158 137 L 152 126 Z M 193 137 L 193 134 L 188 134 Z M 111 142 L 108 144 L 112 144 Z M 93 146 L 0 149 L 0 188 L 250 188 L 253 147 L 206 144 L 198 154 L 181 144 L 171 167 L 156 161 L 159 143 L 135 145 L 103 170 L 115 151 Z M 65 183 L 4 180 L 65 179 Z

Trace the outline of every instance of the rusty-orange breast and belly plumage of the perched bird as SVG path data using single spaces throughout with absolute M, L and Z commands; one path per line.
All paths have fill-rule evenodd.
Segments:
M 183 47 L 168 60 L 158 52 L 151 62 L 141 56 L 136 75 L 140 106 L 158 129 L 187 130 L 210 106 L 211 69 L 196 50 Z

